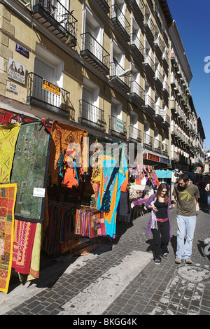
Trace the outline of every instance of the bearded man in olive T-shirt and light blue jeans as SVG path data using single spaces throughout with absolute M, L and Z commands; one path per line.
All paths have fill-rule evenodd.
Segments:
M 187 174 L 179 176 L 179 182 L 175 184 L 173 195 L 177 202 L 177 248 L 176 264 L 181 264 L 185 260 L 187 264 L 192 264 L 192 246 L 196 225 L 196 204 L 200 198 L 199 189 L 194 185 Z M 185 243 L 186 236 L 186 243 Z

